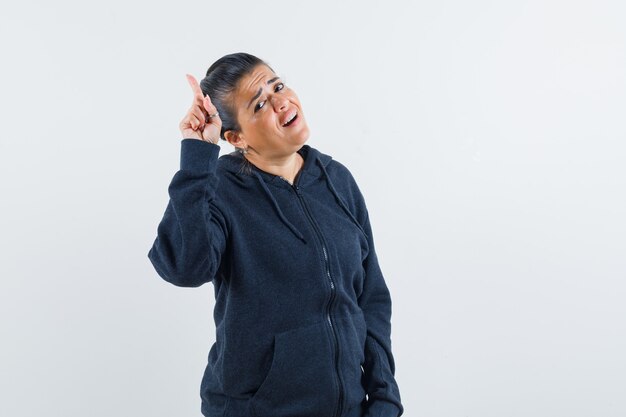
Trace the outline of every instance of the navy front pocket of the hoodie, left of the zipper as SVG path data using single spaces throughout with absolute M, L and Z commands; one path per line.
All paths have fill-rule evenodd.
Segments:
M 270 369 L 250 399 L 256 417 L 330 415 L 338 397 L 326 322 L 274 335 Z

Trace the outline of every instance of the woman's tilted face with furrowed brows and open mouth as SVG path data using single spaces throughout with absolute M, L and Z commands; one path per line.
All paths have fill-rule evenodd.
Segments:
M 251 146 L 265 155 L 288 155 L 309 138 L 298 96 L 266 65 L 256 66 L 241 79 L 233 100 L 241 128 L 238 136 L 245 141 L 235 146 Z M 285 125 L 294 114 L 296 118 Z

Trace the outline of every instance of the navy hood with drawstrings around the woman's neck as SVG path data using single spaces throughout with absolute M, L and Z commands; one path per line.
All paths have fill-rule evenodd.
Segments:
M 302 166 L 300 172 L 295 179 L 295 185 L 297 185 L 298 189 L 306 188 L 308 184 L 316 181 L 318 178 L 322 178 L 322 180 L 325 181 L 326 186 L 328 187 L 330 192 L 335 197 L 335 201 L 337 202 L 339 207 L 341 207 L 346 215 L 357 225 L 359 229 L 361 229 L 361 225 L 350 212 L 343 199 L 339 196 L 336 187 L 334 186 L 332 180 L 330 179 L 330 176 L 328 175 L 328 172 L 326 171 L 326 167 L 330 164 L 330 161 L 333 158 L 330 155 L 324 154 L 306 144 L 298 149 L 297 152 L 302 155 L 302 158 L 304 159 L 304 165 Z M 287 187 L 289 187 L 289 184 L 282 178 L 280 178 L 279 175 L 265 172 L 252 163 L 249 164 L 251 167 L 251 172 L 242 170 L 242 163 L 244 162 L 243 159 L 244 156 L 240 152 L 235 151 L 226 155 L 222 155 L 219 158 L 219 161 L 224 169 L 235 174 L 236 177 L 243 183 L 251 186 L 255 186 L 255 184 L 258 183 L 258 185 L 263 190 L 264 195 L 274 206 L 276 215 L 282 221 L 285 227 L 291 230 L 291 232 L 298 239 L 306 243 L 304 235 L 287 219 L 287 217 L 285 217 L 283 211 L 280 208 L 280 205 L 278 204 L 278 201 L 276 201 L 276 198 L 274 198 L 274 195 L 267 186 L 268 183 L 273 183 L 275 181 L 281 181 Z

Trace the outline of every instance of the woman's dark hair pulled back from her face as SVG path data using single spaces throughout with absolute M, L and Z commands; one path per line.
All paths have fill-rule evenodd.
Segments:
M 209 95 L 211 102 L 220 113 L 221 139 L 226 140 L 224 137 L 226 131 L 241 129 L 237 121 L 237 110 L 232 93 L 239 81 L 260 64 L 266 65 L 272 72 L 275 72 L 265 61 L 254 55 L 245 52 L 224 55 L 209 67 L 206 76 L 200 81 L 202 93 Z

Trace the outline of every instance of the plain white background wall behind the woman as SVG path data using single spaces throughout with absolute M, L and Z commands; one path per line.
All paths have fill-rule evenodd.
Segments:
M 241 51 L 365 194 L 405 416 L 626 415 L 624 22 L 599 0 L 3 4 L 0 415 L 201 416 L 213 286 L 147 252 L 185 73 Z

